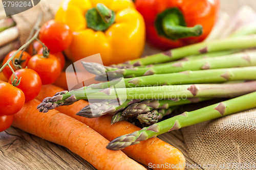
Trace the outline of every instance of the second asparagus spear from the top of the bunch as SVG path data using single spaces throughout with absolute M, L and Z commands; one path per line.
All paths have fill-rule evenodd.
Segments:
M 232 62 L 230 62 L 232 61 Z M 160 65 L 153 65 L 151 67 L 134 67 L 131 69 L 116 69 L 108 71 L 111 77 L 123 75 L 124 78 L 133 78 L 140 76 L 150 76 L 154 74 L 168 74 L 173 72 L 180 72 L 186 70 L 204 70 L 217 68 L 231 68 L 242 66 L 256 66 L 256 52 L 244 52 L 231 54 L 227 56 L 220 56 L 214 58 L 170 62 Z M 103 66 L 102 66 L 103 67 Z M 106 79 L 106 74 L 97 76 L 97 80 Z

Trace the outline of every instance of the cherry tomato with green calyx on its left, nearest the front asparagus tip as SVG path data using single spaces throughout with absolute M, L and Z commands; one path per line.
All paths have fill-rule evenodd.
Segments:
M 22 77 L 19 85 L 16 87 L 24 92 L 25 102 L 34 99 L 39 94 L 42 87 L 42 82 L 37 72 L 33 69 L 23 68 L 16 70 L 15 74 L 17 75 L 18 80 Z M 15 79 L 14 75 L 9 78 L 10 84 L 12 84 L 12 79 Z

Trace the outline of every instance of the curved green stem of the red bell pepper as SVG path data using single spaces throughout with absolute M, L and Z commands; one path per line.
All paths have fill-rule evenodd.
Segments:
M 201 25 L 186 27 L 184 16 L 178 8 L 170 8 L 158 14 L 155 24 L 160 36 L 172 40 L 197 37 L 203 33 Z

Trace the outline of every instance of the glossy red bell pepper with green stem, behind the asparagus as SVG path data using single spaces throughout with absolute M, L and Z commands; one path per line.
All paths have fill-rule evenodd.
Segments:
M 219 0 L 136 0 L 147 41 L 168 50 L 203 41 L 214 26 Z

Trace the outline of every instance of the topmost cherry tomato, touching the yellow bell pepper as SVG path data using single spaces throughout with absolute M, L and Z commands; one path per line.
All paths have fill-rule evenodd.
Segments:
M 72 38 L 73 35 L 69 26 L 54 19 L 46 22 L 39 33 L 39 39 L 45 43 L 52 53 L 61 52 L 69 47 Z

